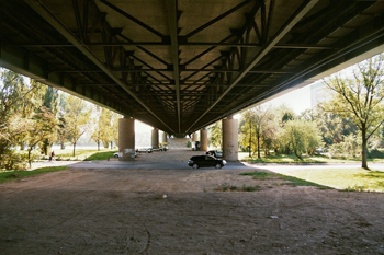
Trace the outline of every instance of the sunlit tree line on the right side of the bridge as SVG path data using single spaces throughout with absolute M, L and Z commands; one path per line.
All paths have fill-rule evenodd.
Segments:
M 384 55 L 323 80 L 327 101 L 300 115 L 286 106 L 256 106 L 241 114 L 239 147 L 249 155 L 327 151 L 336 158 L 383 157 Z M 210 128 L 210 142 L 221 147 L 221 123 Z M 251 153 L 252 152 L 252 153 Z

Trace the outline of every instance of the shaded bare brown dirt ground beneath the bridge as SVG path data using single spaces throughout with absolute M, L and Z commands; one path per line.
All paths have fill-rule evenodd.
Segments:
M 137 162 L 187 162 L 190 154 L 156 152 Z M 384 254 L 384 194 L 256 181 L 240 176 L 253 170 L 238 163 L 112 163 L 0 184 L 0 254 Z M 261 190 L 216 192 L 223 184 Z

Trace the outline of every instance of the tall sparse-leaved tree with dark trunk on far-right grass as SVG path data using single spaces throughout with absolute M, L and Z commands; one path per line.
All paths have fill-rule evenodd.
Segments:
M 329 111 L 351 118 L 362 138 L 361 166 L 369 170 L 368 141 L 384 123 L 384 55 L 364 60 L 353 68 L 353 78 L 341 72 L 325 80 L 334 92 Z

